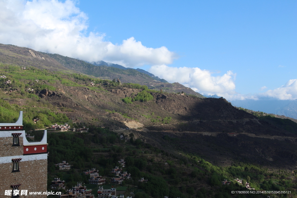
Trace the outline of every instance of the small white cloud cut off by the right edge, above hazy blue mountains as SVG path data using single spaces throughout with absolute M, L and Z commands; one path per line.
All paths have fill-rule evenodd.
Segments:
M 269 96 L 279 100 L 295 100 L 297 99 L 297 79 L 289 80 L 285 85 L 259 95 Z

